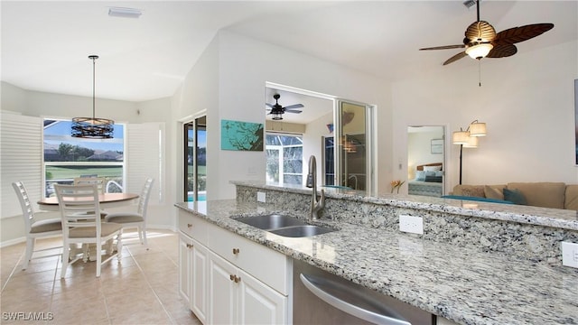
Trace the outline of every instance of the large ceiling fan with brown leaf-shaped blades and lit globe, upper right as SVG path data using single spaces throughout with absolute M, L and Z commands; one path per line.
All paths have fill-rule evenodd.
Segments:
M 554 23 L 533 23 L 519 27 L 512 27 L 502 32 L 496 33 L 494 27 L 485 21 L 480 21 L 480 0 L 474 0 L 478 11 L 478 20 L 471 23 L 465 32 L 463 44 L 435 46 L 424 50 L 448 50 L 461 49 L 465 51 L 445 60 L 443 65 L 450 64 L 463 57 L 470 56 L 472 59 L 482 58 L 504 58 L 516 54 L 517 48 L 514 43 L 524 42 L 534 38 L 543 32 L 547 32 L 554 27 Z M 471 3 L 471 1 L 469 1 Z M 464 5 L 468 6 L 464 3 Z

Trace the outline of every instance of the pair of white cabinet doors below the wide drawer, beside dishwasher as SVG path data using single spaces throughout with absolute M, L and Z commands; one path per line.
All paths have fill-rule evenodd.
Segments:
M 210 322 L 214 324 L 282 324 L 288 298 L 210 254 Z

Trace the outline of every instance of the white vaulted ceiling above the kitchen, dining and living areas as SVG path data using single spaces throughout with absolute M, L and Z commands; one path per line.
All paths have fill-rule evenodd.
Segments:
M 466 27 L 476 20 L 475 7 L 468 9 L 461 0 L 0 4 L 3 81 L 25 89 L 92 96 L 88 56 L 98 54 L 97 97 L 129 101 L 172 96 L 219 29 L 383 79 L 399 79 L 442 69 L 443 60 L 458 50 L 417 49 L 460 44 Z M 109 17 L 110 6 L 138 8 L 143 14 L 138 19 Z M 576 1 L 481 3 L 481 19 L 497 32 L 528 23 L 555 23 L 552 31 L 518 43 L 518 51 L 576 40 L 577 16 Z M 443 69 L 471 64 L 473 60 L 464 58 Z M 300 99 L 282 96 L 281 103 L 291 105 L 294 100 Z

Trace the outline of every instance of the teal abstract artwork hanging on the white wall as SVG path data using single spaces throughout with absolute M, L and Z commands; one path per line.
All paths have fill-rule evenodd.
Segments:
M 222 150 L 263 151 L 263 124 L 220 120 Z

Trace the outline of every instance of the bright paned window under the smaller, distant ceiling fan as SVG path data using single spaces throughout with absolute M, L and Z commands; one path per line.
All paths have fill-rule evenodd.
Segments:
M 279 185 L 303 184 L 303 137 L 266 135 L 266 181 Z

